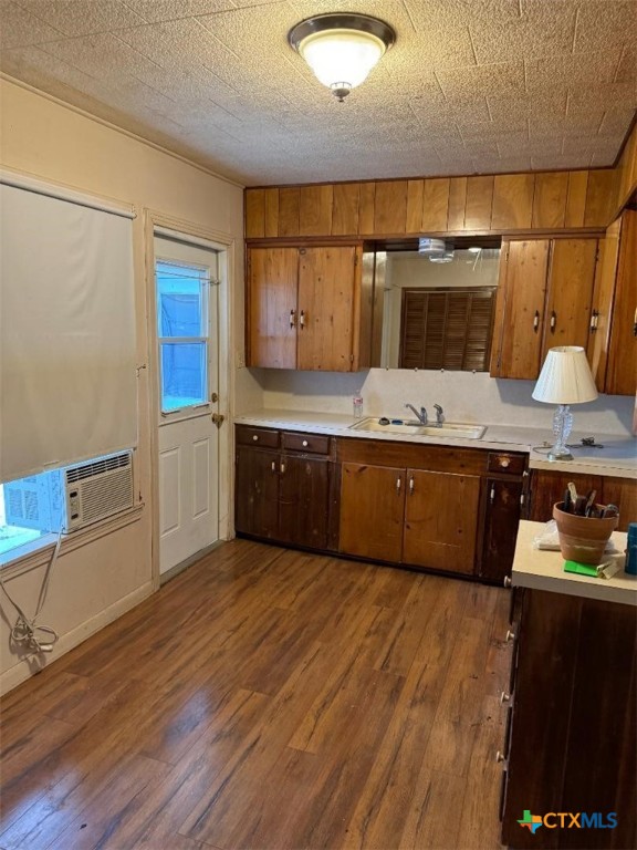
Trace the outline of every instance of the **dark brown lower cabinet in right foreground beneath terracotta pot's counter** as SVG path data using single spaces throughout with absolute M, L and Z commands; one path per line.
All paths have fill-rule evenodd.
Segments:
M 522 591 L 502 749 L 504 846 L 637 847 L 636 626 L 631 605 Z M 532 833 L 519 822 L 525 812 L 554 815 Z M 583 828 L 581 812 L 597 827 Z M 570 827 L 568 813 L 579 815 L 581 828 Z

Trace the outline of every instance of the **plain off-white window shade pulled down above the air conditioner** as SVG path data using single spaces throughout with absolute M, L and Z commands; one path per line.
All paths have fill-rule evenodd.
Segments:
M 0 185 L 0 480 L 137 443 L 132 221 Z

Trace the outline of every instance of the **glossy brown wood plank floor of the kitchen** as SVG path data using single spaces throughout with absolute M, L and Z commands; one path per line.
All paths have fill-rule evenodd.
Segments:
M 1 704 L 2 850 L 494 850 L 509 593 L 226 543 Z

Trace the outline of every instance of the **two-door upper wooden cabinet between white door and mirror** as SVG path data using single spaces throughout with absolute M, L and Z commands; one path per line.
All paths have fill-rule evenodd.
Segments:
M 250 366 L 351 372 L 359 362 L 359 246 L 248 251 Z

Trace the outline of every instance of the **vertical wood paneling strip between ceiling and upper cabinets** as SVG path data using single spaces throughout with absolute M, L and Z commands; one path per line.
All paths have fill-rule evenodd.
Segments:
M 249 188 L 246 238 L 605 228 L 617 178 L 618 169 L 601 168 Z

